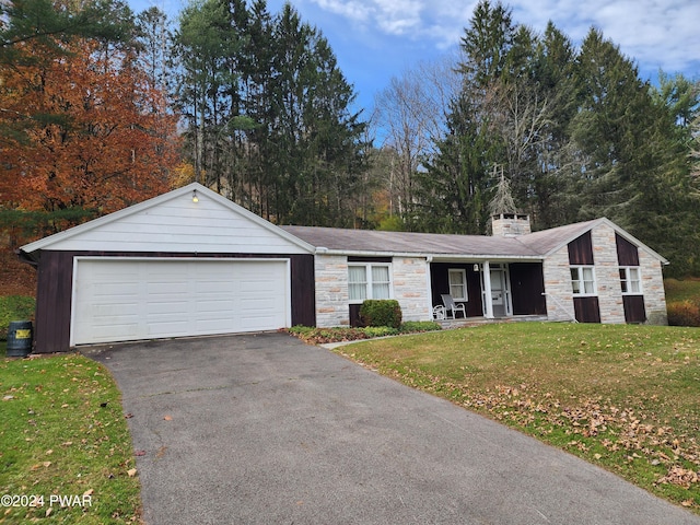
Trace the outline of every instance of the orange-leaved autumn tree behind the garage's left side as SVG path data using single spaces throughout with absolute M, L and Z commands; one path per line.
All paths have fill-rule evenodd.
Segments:
M 18 46 L 25 59 L 1 71 L 3 211 L 65 228 L 168 189 L 177 119 L 135 45 L 63 36 Z

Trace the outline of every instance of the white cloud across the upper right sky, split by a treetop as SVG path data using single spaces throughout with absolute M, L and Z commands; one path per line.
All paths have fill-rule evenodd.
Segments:
M 346 19 L 350 31 L 430 43 L 436 49 L 457 45 L 477 0 L 306 0 Z M 495 2 L 493 2 L 495 3 Z M 700 65 L 698 0 L 512 0 L 516 23 L 545 30 L 549 20 L 579 44 L 591 26 L 619 45 L 645 69 L 685 71 Z

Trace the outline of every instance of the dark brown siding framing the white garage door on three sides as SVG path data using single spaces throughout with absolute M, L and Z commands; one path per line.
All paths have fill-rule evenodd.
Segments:
M 38 262 L 35 348 L 36 353 L 65 352 L 70 348 L 73 258 L 276 258 L 290 260 L 292 325 L 316 325 L 314 256 L 289 254 L 186 254 L 127 252 L 43 250 Z

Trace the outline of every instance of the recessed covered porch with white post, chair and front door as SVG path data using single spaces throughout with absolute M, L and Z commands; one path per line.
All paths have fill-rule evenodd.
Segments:
M 435 258 L 430 291 L 433 318 L 440 323 L 547 319 L 541 260 Z M 445 294 L 457 308 L 445 307 Z

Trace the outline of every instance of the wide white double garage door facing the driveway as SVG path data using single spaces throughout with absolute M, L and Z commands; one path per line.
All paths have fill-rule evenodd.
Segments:
M 290 326 L 287 260 L 77 258 L 75 265 L 72 345 Z

